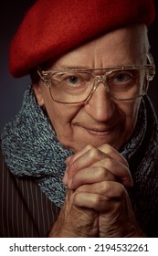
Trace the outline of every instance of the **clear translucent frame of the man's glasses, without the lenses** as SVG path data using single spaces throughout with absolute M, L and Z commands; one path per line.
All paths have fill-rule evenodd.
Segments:
M 105 68 L 93 68 L 93 69 L 53 69 L 53 70 L 42 70 L 40 69 L 40 67 L 37 67 L 37 73 L 40 77 L 40 79 L 43 81 L 44 85 L 46 87 L 49 88 L 49 93 L 50 93 L 50 96 L 52 98 L 53 101 L 56 101 L 58 103 L 63 103 L 63 104 L 79 104 L 79 103 L 84 103 L 84 102 L 87 102 L 90 100 L 90 97 L 91 95 L 94 93 L 94 91 L 96 91 L 97 89 L 97 83 L 95 83 L 94 81 L 98 81 L 98 82 L 103 82 L 104 83 L 104 86 L 106 87 L 106 89 L 108 89 L 107 91 L 110 92 L 111 94 L 111 91 L 109 89 L 109 87 L 105 84 L 106 82 L 106 79 L 108 77 L 108 75 L 111 74 L 111 72 L 113 71 L 117 71 L 117 70 L 127 70 L 127 69 L 146 69 L 146 86 L 145 86 L 145 91 L 143 92 L 142 91 L 142 94 L 141 95 L 138 95 L 134 98 L 128 98 L 128 99 L 118 99 L 114 96 L 111 95 L 111 97 L 116 100 L 116 101 L 132 101 L 136 98 L 140 98 L 142 96 L 144 96 L 146 94 L 146 92 L 148 91 L 148 87 L 149 87 L 149 81 L 153 80 L 153 77 L 155 75 L 155 65 L 154 65 L 154 60 L 153 60 L 153 56 L 150 52 L 148 52 L 146 54 L 146 57 L 147 57 L 147 60 L 150 64 L 146 64 L 146 65 L 132 65 L 132 66 L 115 66 L 115 67 L 105 67 Z M 91 74 L 92 71 L 95 71 L 95 70 L 106 70 L 107 71 L 104 71 L 104 75 L 93 75 Z M 63 72 L 63 73 L 67 73 L 67 72 L 80 72 L 80 73 L 84 73 L 84 72 L 88 72 L 90 73 L 90 75 L 93 77 L 93 85 L 92 85 L 92 88 L 91 88 L 91 91 L 89 93 L 89 95 L 87 96 L 86 99 L 84 99 L 83 101 L 75 101 L 75 102 L 65 102 L 65 101 L 58 101 L 58 100 L 55 100 L 53 98 L 53 95 L 51 93 L 51 90 L 50 90 L 50 87 L 52 86 L 52 76 L 58 72 Z M 96 85 L 95 85 L 96 84 Z

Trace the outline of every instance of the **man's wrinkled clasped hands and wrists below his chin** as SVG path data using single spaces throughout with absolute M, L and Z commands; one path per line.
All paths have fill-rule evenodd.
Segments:
M 132 177 L 110 145 L 87 146 L 68 158 L 66 202 L 50 237 L 143 237 L 126 187 Z

